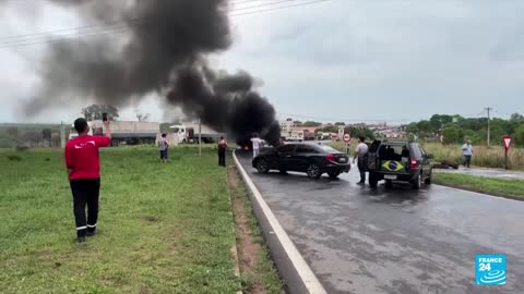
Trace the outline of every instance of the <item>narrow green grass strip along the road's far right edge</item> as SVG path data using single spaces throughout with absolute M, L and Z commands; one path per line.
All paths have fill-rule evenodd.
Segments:
M 524 180 L 507 180 L 469 174 L 433 173 L 436 184 L 524 200 Z

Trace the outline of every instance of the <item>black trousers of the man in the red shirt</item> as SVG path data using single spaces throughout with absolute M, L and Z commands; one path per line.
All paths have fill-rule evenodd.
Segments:
M 76 222 L 76 235 L 85 236 L 87 231 L 96 230 L 98 219 L 98 195 L 100 192 L 100 179 L 71 180 L 71 192 L 73 193 L 73 212 Z M 87 205 L 87 219 L 85 206 Z

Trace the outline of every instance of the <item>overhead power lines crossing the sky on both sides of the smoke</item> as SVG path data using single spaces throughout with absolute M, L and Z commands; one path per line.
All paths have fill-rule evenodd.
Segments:
M 294 1 L 294 0 L 285 0 L 285 1 L 260 4 L 260 5 L 253 5 L 253 7 L 250 7 L 250 9 L 282 4 L 284 2 L 290 2 L 290 1 Z M 331 0 L 315 0 L 315 1 L 297 3 L 297 4 L 282 5 L 282 7 L 277 7 L 277 8 L 271 8 L 271 9 L 253 10 L 253 11 L 241 12 L 241 13 L 231 13 L 231 14 L 229 14 L 229 16 L 240 16 L 240 15 L 255 14 L 255 13 L 262 13 L 262 12 L 267 12 L 267 11 L 275 11 L 275 10 L 282 10 L 282 9 L 295 8 L 295 7 L 310 5 L 310 4 L 315 4 L 315 3 L 320 3 L 320 2 L 326 2 L 326 1 L 331 1 Z M 243 9 L 231 9 L 231 10 L 229 10 L 229 12 L 236 12 L 238 10 L 243 10 Z M 26 38 L 26 39 L 14 40 L 14 41 L 11 41 L 11 40 L 3 41 L 3 42 L 0 41 L 0 49 L 1 48 L 13 48 L 13 47 L 20 47 L 20 46 L 38 45 L 38 44 L 52 44 L 52 42 L 62 41 L 62 40 L 73 40 L 74 37 L 97 36 L 97 35 L 102 35 L 102 34 L 121 34 L 121 33 L 126 33 L 129 29 L 129 26 L 147 24 L 145 22 L 146 19 L 147 17 L 133 19 L 133 20 L 128 21 L 127 24 L 112 25 L 112 27 L 106 27 L 106 28 L 104 28 L 104 25 L 90 25 L 90 26 L 82 26 L 82 27 L 75 27 L 75 28 L 64 28 L 64 29 L 56 29 L 56 30 L 49 30 L 49 32 L 35 33 L 33 35 L 43 35 L 44 37 Z M 115 24 L 118 24 L 118 23 L 115 23 Z M 68 33 L 68 34 L 62 34 L 62 35 L 51 35 L 56 32 L 67 32 L 67 30 L 72 30 L 72 29 L 84 29 L 84 28 L 94 28 L 94 27 L 99 27 L 99 28 L 104 28 L 104 29 L 97 28 L 97 29 L 93 29 L 91 32 L 86 30 L 86 32 Z M 48 37 L 48 38 L 45 38 L 46 35 L 51 35 L 51 36 Z M 31 34 L 7 37 L 7 38 L 4 38 L 4 40 L 5 39 L 13 39 L 13 38 L 23 38 L 23 37 L 26 37 L 26 36 L 31 36 Z M 0 40 L 2 40 L 2 39 L 0 38 Z

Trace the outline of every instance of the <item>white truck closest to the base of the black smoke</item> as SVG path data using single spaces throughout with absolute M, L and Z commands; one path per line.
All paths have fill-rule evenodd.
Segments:
M 171 125 L 172 134 L 179 143 L 199 143 L 199 123 L 183 123 Z M 225 133 L 216 132 L 215 130 L 202 124 L 200 126 L 200 137 L 202 143 L 218 142 L 221 136 L 226 136 Z

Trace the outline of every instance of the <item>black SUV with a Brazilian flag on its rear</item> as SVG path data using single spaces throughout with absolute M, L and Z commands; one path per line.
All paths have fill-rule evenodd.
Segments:
M 394 181 L 409 182 L 416 189 L 422 182 L 430 185 L 431 158 L 418 143 L 374 140 L 367 156 L 369 186 L 377 187 L 381 180 L 385 180 L 386 187 Z

